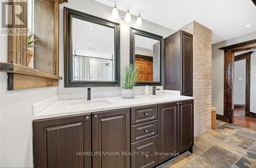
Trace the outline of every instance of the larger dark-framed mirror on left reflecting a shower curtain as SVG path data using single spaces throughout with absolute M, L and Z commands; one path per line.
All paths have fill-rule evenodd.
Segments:
M 64 8 L 65 87 L 120 86 L 120 25 Z

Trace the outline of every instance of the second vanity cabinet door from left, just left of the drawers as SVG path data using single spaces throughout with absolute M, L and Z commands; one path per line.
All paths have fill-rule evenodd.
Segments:
M 93 167 L 130 167 L 130 156 L 122 154 L 130 152 L 130 109 L 93 113 L 92 150 L 108 152 L 93 156 Z

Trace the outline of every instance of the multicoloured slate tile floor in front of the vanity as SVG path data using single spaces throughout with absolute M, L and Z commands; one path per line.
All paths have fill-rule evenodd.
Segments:
M 256 131 L 217 121 L 217 129 L 195 138 L 186 152 L 158 167 L 256 167 Z

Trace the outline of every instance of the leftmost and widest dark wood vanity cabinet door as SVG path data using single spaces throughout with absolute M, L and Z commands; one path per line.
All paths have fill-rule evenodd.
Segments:
M 91 117 L 59 117 L 33 122 L 35 167 L 91 167 Z

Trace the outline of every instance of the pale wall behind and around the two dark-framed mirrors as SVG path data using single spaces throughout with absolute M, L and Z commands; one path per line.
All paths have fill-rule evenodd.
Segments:
M 156 25 L 153 22 L 143 20 L 142 27 L 136 27 L 135 22 L 132 23 L 125 23 L 121 19 L 112 19 L 111 18 L 111 11 L 112 8 L 105 6 L 103 4 L 97 3 L 93 0 L 71 0 L 69 3 L 64 3 L 60 5 L 59 13 L 59 25 L 60 25 L 60 38 L 59 38 L 59 74 L 60 76 L 64 77 L 64 41 L 63 41 L 63 7 L 72 8 L 84 13 L 88 13 L 91 15 L 95 15 L 104 19 L 108 19 L 111 21 L 119 22 L 120 23 L 120 56 L 121 56 L 121 74 L 123 73 L 123 67 L 125 64 L 130 62 L 130 27 L 134 27 L 137 29 L 141 29 L 147 32 L 151 32 L 154 34 L 161 35 L 163 37 L 167 37 L 172 34 L 174 31 L 159 25 Z M 124 16 L 125 13 L 119 10 L 119 15 Z M 136 20 L 137 17 L 132 16 L 133 20 Z M 121 75 L 121 82 L 122 82 L 122 75 Z M 158 88 L 163 88 L 158 87 Z M 144 87 L 136 87 L 135 90 L 143 90 Z M 113 91 L 120 91 L 121 87 L 94 87 L 92 88 L 92 92 L 113 92 Z M 65 88 L 64 81 L 60 81 L 58 87 L 58 94 L 75 94 L 75 93 L 86 93 L 87 88 Z

